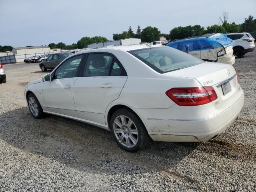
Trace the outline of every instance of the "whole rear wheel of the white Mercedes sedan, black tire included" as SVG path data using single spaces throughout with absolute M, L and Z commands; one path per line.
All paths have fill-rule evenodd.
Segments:
M 142 121 L 126 108 L 114 112 L 110 119 L 110 129 L 116 143 L 128 152 L 143 149 L 150 141 Z

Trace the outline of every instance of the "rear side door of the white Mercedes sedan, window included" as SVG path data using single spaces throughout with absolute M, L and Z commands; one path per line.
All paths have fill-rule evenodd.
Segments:
M 109 53 L 90 53 L 74 84 L 74 102 L 80 118 L 106 124 L 107 106 L 116 100 L 128 76 Z

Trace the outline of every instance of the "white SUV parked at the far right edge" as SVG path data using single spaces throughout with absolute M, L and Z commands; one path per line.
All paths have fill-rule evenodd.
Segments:
M 255 49 L 254 38 L 250 33 L 228 33 L 226 34 L 228 38 L 234 40 L 236 45 L 234 45 L 234 54 L 241 58 L 244 54 L 252 52 Z

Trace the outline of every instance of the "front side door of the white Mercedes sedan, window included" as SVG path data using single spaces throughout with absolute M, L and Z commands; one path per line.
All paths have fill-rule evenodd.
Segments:
M 52 72 L 52 80 L 44 82 L 43 96 L 48 111 L 77 116 L 73 99 L 73 86 L 83 55 L 74 56 Z

